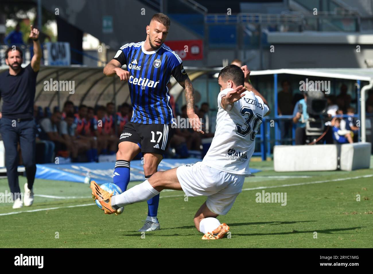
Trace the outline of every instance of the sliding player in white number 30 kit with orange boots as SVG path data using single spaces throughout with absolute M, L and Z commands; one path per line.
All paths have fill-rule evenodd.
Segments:
M 243 88 L 244 78 L 243 70 L 236 65 L 220 71 L 216 134 L 201 162 L 159 171 L 115 196 L 91 182 L 92 194 L 105 214 L 146 201 L 163 189 L 183 190 L 188 196 L 207 196 L 194 216 L 195 227 L 204 233 L 202 239 L 222 238 L 229 226 L 220 224 L 216 217 L 227 214 L 242 191 L 245 175 L 250 174 L 248 164 L 254 153 L 255 135 L 263 117 L 269 114 L 264 97 L 254 88 Z

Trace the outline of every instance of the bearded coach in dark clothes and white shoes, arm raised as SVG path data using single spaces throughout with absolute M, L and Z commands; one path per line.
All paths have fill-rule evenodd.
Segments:
M 5 147 L 5 166 L 13 208 L 32 205 L 34 194 L 32 185 L 35 180 L 35 137 L 36 125 L 33 119 L 36 76 L 40 68 L 41 47 L 39 31 L 32 27 L 29 38 L 34 40 L 34 56 L 25 68 L 22 64 L 21 49 L 12 46 L 5 53 L 5 62 L 9 70 L 0 74 L 0 98 L 3 99 L 0 113 L 0 132 Z M 23 202 L 18 183 L 18 142 L 21 146 L 22 161 L 26 168 L 27 183 Z

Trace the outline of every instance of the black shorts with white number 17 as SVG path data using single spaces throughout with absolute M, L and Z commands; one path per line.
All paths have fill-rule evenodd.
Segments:
M 123 127 L 119 142 L 138 144 L 142 153 L 163 154 L 172 137 L 170 124 L 140 124 L 128 122 Z

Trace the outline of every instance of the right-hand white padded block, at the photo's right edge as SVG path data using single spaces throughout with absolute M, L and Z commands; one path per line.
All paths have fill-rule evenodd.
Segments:
M 358 142 L 341 145 L 341 170 L 369 169 L 372 144 Z

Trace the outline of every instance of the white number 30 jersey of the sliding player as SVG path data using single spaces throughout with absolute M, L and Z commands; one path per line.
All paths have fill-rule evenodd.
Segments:
M 245 96 L 226 111 L 220 102 L 231 90 L 224 89 L 217 97 L 215 136 L 202 163 L 229 173 L 250 174 L 249 161 L 255 149 L 255 135 L 269 108 L 254 92 L 245 91 Z

